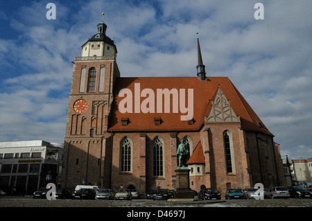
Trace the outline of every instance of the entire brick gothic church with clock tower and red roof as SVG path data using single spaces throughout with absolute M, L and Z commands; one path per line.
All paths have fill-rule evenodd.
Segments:
M 198 39 L 197 76 L 122 78 L 106 29 L 73 61 L 63 187 L 175 189 L 181 139 L 195 191 L 285 184 L 274 135 L 229 78 L 206 76 Z

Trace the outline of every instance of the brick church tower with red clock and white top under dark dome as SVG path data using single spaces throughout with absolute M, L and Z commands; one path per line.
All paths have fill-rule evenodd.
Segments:
M 105 168 L 110 165 L 105 143 L 110 139 L 107 126 L 114 82 L 120 73 L 116 64 L 117 49 L 107 37 L 106 28 L 102 19 L 97 33 L 83 44 L 81 57 L 73 60 L 64 139 L 67 159 L 64 159 L 62 175 L 62 186 L 69 188 L 76 184 L 103 186 L 103 177 L 110 177 L 107 174 L 110 166 Z

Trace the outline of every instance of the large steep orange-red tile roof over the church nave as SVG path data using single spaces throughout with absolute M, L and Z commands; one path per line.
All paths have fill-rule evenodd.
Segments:
M 155 113 L 143 112 L 135 113 L 135 83 L 139 83 L 140 92 L 143 89 L 152 89 L 155 93 Z M 230 100 L 232 109 L 241 118 L 241 128 L 270 134 L 257 114 L 248 105 L 247 101 L 241 96 L 227 77 L 209 77 L 205 81 L 197 77 L 146 77 L 146 78 L 116 78 L 114 88 L 114 100 L 110 114 L 109 131 L 181 131 L 181 130 L 200 130 L 205 121 L 204 116 L 208 116 L 211 109 L 211 100 L 216 96 L 218 85 L 222 89 L 225 97 Z M 132 113 L 119 112 L 119 103 L 125 97 L 119 97 L 121 89 L 132 91 Z M 193 125 L 188 121 L 181 121 L 180 116 L 186 115 L 180 112 L 173 113 L 172 97 L 170 113 L 157 113 L 157 89 L 185 89 L 186 106 L 187 91 L 193 89 Z M 180 94 L 179 94 L 180 96 Z M 140 98 L 140 104 L 145 97 Z M 164 112 L 164 99 L 163 112 Z M 180 104 L 180 102 L 179 102 Z M 121 125 L 121 118 L 128 118 L 128 125 Z M 155 125 L 155 118 L 160 118 L 160 125 Z M 259 126 L 261 123 L 261 127 Z

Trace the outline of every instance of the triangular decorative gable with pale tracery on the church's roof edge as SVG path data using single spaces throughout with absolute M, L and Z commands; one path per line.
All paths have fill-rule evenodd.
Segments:
M 240 118 L 234 113 L 229 100 L 223 94 L 223 91 L 218 85 L 218 91 L 214 100 L 211 100 L 211 110 L 207 117 L 207 122 L 216 123 L 228 123 L 228 122 L 239 122 Z

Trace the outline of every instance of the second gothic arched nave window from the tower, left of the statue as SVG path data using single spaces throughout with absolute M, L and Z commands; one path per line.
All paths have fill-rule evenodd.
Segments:
M 157 136 L 153 141 L 153 166 L 155 177 L 162 177 L 164 175 L 164 143 L 162 139 Z

